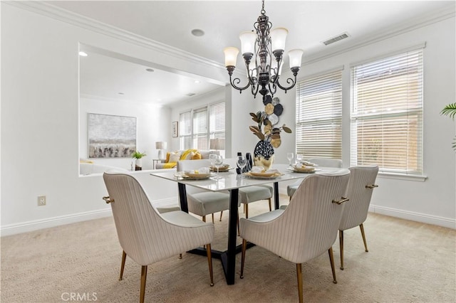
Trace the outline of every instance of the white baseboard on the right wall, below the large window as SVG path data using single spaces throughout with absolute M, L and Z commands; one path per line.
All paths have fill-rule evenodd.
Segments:
M 369 206 L 371 213 L 379 213 L 380 215 L 401 218 L 405 220 L 412 220 L 426 224 L 438 225 L 445 228 L 456 229 L 456 220 L 453 218 L 445 218 L 440 216 L 427 215 L 425 213 L 416 213 L 413 211 L 403 211 L 397 208 L 389 208 L 385 206 L 376 206 L 371 204 Z

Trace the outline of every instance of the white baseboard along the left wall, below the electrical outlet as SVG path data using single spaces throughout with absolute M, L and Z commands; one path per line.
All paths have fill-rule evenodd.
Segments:
M 172 206 L 172 203 L 175 204 L 176 198 L 172 199 L 166 199 L 166 200 L 160 200 L 160 201 L 153 201 L 152 203 L 154 205 L 160 206 L 160 207 L 167 207 L 167 206 Z M 71 215 L 67 216 L 58 216 L 58 217 L 53 217 L 53 218 L 45 218 L 41 220 L 33 220 L 33 221 L 27 221 L 23 223 L 16 223 L 16 224 L 10 224 L 10 225 L 5 225 L 1 226 L 0 228 L 0 234 L 1 236 L 6 236 L 6 235 L 16 235 L 18 233 L 27 233 L 29 231 L 33 230 L 40 230 L 43 228 L 51 228 L 59 225 L 66 225 L 70 223 L 77 223 L 77 222 L 82 222 L 86 220 L 93 220 L 93 219 L 98 219 L 98 218 L 105 218 L 112 216 L 112 211 L 110 208 L 105 208 L 105 209 L 100 209 L 97 211 L 86 211 L 83 213 L 73 213 Z

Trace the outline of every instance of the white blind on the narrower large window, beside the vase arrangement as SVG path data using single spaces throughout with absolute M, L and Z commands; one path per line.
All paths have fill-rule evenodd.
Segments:
M 296 153 L 309 159 L 342 158 L 342 71 L 297 83 Z

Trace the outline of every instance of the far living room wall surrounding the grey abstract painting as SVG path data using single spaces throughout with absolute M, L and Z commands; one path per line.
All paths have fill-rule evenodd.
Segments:
M 142 169 L 152 169 L 152 159 L 157 159 L 158 150 L 155 149 L 155 142 L 167 142 L 171 137 L 171 110 L 168 107 L 81 97 L 79 113 L 79 156 L 83 159 L 88 159 L 88 113 L 136 117 L 136 149 L 147 154 L 142 158 Z M 90 160 L 96 164 L 123 169 L 131 169 L 132 162 L 133 167 L 135 165 L 134 159 L 130 157 Z

